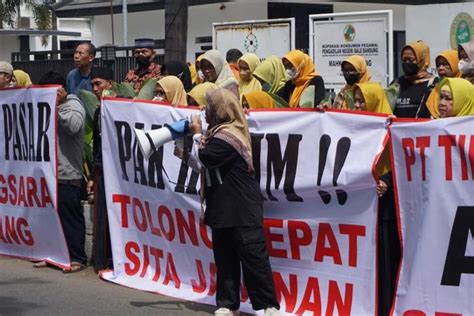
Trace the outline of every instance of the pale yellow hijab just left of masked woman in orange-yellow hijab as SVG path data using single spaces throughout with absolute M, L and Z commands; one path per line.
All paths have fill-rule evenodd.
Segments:
M 283 88 L 287 80 L 285 66 L 281 59 L 276 56 L 270 56 L 261 62 L 260 65 L 255 68 L 253 75 L 270 84 L 272 87 L 267 92 L 273 94 Z

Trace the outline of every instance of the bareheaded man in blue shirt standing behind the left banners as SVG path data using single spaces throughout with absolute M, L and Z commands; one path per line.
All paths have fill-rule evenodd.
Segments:
M 92 91 L 91 68 L 95 59 L 95 46 L 91 43 L 81 43 L 74 51 L 74 69 L 67 75 L 66 86 L 68 94 L 77 95 L 81 89 Z

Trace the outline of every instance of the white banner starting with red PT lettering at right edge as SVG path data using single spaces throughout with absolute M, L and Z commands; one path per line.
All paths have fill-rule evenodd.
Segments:
M 474 118 L 391 135 L 403 243 L 392 314 L 474 315 Z

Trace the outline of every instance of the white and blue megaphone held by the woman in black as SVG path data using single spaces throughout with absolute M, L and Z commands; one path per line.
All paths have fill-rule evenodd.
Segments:
M 148 159 L 161 146 L 169 141 L 185 136 L 188 131 L 189 121 L 183 119 L 150 131 L 135 128 L 135 135 L 137 136 L 138 146 L 143 156 Z

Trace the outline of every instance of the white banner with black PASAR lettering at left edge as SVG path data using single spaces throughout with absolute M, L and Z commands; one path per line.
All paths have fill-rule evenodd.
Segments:
M 56 91 L 0 90 L 0 254 L 69 267 L 57 213 Z

